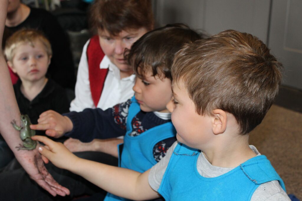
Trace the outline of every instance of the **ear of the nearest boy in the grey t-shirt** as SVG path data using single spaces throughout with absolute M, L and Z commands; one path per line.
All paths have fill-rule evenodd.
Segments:
M 221 134 L 226 130 L 227 115 L 221 109 L 213 110 L 212 130 L 215 135 Z

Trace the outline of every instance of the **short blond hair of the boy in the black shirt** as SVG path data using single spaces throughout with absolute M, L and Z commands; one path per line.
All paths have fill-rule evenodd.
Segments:
M 51 45 L 48 39 L 38 30 L 34 29 L 21 29 L 13 33 L 5 43 L 4 54 L 5 58 L 8 61 L 12 61 L 15 55 L 14 50 L 24 43 L 30 43 L 31 46 L 34 46 L 34 41 L 39 39 L 42 44 L 45 46 L 45 50 L 48 56 L 51 56 L 52 50 Z

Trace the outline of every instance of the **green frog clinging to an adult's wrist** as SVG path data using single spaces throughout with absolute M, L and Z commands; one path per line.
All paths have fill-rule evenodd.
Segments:
M 20 150 L 20 149 L 27 149 L 27 150 L 35 149 L 36 146 L 37 146 L 37 141 L 32 140 L 31 137 L 36 134 L 36 131 L 31 130 L 31 127 L 29 126 L 29 125 L 31 125 L 31 120 L 29 119 L 28 115 L 20 115 L 20 118 L 21 118 L 21 126 L 20 127 L 16 124 L 15 120 L 11 121 L 11 125 L 13 125 L 13 127 L 16 130 L 20 131 L 20 138 L 23 141 L 23 145 L 20 144 L 20 146 L 16 146 L 16 148 L 18 150 Z

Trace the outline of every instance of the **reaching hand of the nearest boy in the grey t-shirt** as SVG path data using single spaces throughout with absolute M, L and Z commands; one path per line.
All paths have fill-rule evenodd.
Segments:
M 39 135 L 33 136 L 32 140 L 38 140 L 46 145 L 40 146 L 38 148 L 39 152 L 58 168 L 70 170 L 70 168 L 76 167 L 79 158 L 62 143 L 54 142 L 45 136 Z

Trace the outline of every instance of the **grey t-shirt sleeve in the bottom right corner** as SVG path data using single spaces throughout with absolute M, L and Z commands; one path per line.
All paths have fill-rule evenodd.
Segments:
M 291 201 L 277 180 L 261 184 L 253 193 L 251 201 Z

